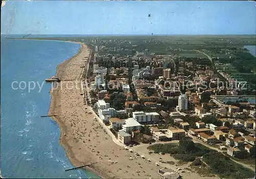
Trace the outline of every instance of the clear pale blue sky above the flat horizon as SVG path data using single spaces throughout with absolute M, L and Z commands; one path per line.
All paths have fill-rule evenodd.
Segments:
M 255 22 L 248 1 L 7 1 L 1 33 L 256 34 Z

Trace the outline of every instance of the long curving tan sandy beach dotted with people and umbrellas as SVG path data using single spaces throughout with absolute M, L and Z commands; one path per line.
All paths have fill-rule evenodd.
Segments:
M 143 160 L 113 142 L 102 129 L 90 106 L 83 104 L 80 95 L 80 64 L 89 56 L 89 47 L 81 44 L 79 53 L 57 66 L 56 76 L 60 85 L 54 85 L 49 115 L 57 121 L 60 144 L 74 166 L 98 162 L 84 169 L 97 173 L 102 178 L 160 178 L 155 162 Z M 69 85 L 67 86 L 67 84 Z M 71 83 L 78 83 L 71 87 Z M 198 178 L 196 173 L 186 173 L 183 178 Z

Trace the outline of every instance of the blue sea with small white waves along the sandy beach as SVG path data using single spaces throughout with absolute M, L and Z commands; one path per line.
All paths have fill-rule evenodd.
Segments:
M 72 164 L 59 143 L 60 129 L 47 115 L 51 84 L 62 61 L 79 44 L 1 39 L 1 162 L 6 178 L 100 178 Z

